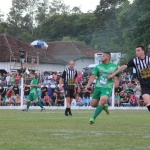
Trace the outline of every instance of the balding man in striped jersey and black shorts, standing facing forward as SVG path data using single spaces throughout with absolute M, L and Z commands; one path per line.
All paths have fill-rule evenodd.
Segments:
M 80 87 L 77 81 L 77 70 L 74 69 L 75 62 L 73 60 L 69 61 L 69 67 L 66 68 L 59 81 L 59 88 L 62 90 L 62 84 L 64 84 L 64 91 L 65 91 L 65 96 L 67 99 L 67 108 L 65 110 L 65 115 L 66 116 L 72 116 L 71 112 L 71 102 L 72 98 L 74 97 L 74 86 L 75 84 L 78 87 L 78 91 L 80 91 Z

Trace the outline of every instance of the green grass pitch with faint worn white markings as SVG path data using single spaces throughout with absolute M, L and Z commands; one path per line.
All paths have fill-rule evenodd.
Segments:
M 147 110 L 103 111 L 89 124 L 94 110 L 0 110 L 0 150 L 148 150 Z

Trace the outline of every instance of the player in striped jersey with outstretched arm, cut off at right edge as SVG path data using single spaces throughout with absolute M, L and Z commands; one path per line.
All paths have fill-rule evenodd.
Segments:
M 150 111 L 150 56 L 145 55 L 145 48 L 143 46 L 137 46 L 135 51 L 137 57 L 122 65 L 117 71 L 109 75 L 108 79 L 114 78 L 116 74 L 127 68 L 134 67 L 141 84 L 144 104 Z

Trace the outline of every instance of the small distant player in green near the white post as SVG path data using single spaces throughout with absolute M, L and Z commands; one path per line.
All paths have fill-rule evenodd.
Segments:
M 37 80 L 37 74 L 35 74 L 35 77 L 31 80 L 30 83 L 30 93 L 28 96 L 28 100 L 27 100 L 27 108 L 23 109 L 22 111 L 28 111 L 29 107 L 30 107 L 30 102 L 34 101 L 35 103 L 37 103 L 40 107 L 41 107 L 41 111 L 45 110 L 45 108 L 43 107 L 43 105 L 40 103 L 40 101 L 38 101 L 38 92 L 37 92 L 37 87 L 38 87 L 38 80 Z

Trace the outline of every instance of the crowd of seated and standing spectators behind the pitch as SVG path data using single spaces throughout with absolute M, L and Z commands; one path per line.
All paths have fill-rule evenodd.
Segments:
M 0 74 L 0 105 L 15 105 L 19 106 L 20 100 L 20 79 L 23 74 Z M 45 72 L 40 75 L 38 87 L 38 100 L 45 106 L 64 106 L 64 90 L 59 89 L 60 73 Z M 90 106 L 91 96 L 94 91 L 95 84 L 93 83 L 88 91 L 85 91 L 85 87 L 88 83 L 91 73 L 87 73 L 85 70 L 78 71 L 77 81 L 80 85 L 80 93 L 77 93 L 76 87 L 74 88 L 74 99 L 72 101 L 73 106 Z M 30 72 L 28 76 L 33 77 L 34 74 Z M 131 75 L 129 72 L 122 72 L 121 82 L 119 87 L 115 88 L 115 103 L 116 107 L 125 106 L 144 106 L 141 87 L 137 78 Z M 30 92 L 30 81 L 25 80 L 24 84 L 24 104 L 28 99 Z M 111 98 L 107 102 L 112 105 Z M 32 103 L 31 105 L 36 105 Z

